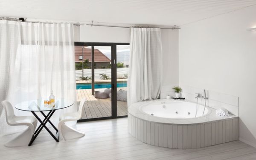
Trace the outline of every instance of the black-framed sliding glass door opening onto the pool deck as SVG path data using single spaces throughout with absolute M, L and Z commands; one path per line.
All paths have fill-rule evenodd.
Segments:
M 127 116 L 128 48 L 122 43 L 75 43 L 77 103 L 87 99 L 79 121 Z

